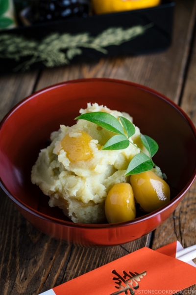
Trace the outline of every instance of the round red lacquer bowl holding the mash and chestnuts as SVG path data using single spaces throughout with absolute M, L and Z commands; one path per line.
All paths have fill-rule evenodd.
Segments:
M 80 108 L 97 102 L 129 113 L 159 150 L 154 162 L 172 186 L 171 202 L 145 216 L 117 224 L 76 224 L 30 181 L 39 150 L 60 124 L 72 125 Z M 51 86 L 14 107 L 0 124 L 0 181 L 23 216 L 37 229 L 80 246 L 123 244 L 154 230 L 174 211 L 196 177 L 196 129 L 170 99 L 147 87 L 110 79 L 84 79 Z

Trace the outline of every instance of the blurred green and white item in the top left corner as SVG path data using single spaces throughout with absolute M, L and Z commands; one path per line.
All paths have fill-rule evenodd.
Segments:
M 0 0 L 0 29 L 16 27 L 14 5 L 12 0 Z

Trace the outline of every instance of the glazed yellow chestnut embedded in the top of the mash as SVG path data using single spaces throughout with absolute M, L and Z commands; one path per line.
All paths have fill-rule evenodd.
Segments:
M 71 162 L 87 161 L 92 157 L 92 150 L 89 146 L 92 137 L 85 131 L 79 133 L 81 135 L 78 137 L 70 137 L 68 133 L 61 141 L 61 146 Z

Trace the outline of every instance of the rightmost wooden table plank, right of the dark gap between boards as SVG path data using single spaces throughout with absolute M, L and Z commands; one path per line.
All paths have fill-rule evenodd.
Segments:
M 196 126 L 196 31 L 180 106 Z M 179 240 L 183 247 L 196 244 L 196 181 L 172 216 L 154 232 L 152 248 L 157 249 L 175 240 Z M 195 293 L 196 285 L 181 294 Z

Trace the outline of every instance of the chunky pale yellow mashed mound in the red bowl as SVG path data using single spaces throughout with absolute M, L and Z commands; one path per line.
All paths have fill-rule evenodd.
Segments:
M 87 108 L 79 112 L 99 111 L 123 116 L 132 122 L 127 113 L 112 111 L 97 103 L 88 103 Z M 131 139 L 137 144 L 140 129 L 135 128 Z M 133 145 L 121 150 L 101 150 L 113 135 L 82 119 L 71 127 L 61 125 L 58 131 L 51 134 L 50 146 L 40 151 L 32 168 L 31 181 L 50 197 L 49 206 L 60 207 L 73 222 L 106 222 L 104 201 L 107 193 L 114 184 L 127 181 L 124 176 L 127 166 L 140 153 L 140 149 Z M 74 143 L 80 143 L 80 139 L 84 142 L 75 148 Z M 86 152 L 82 152 L 82 147 Z M 162 175 L 158 167 L 156 174 Z

